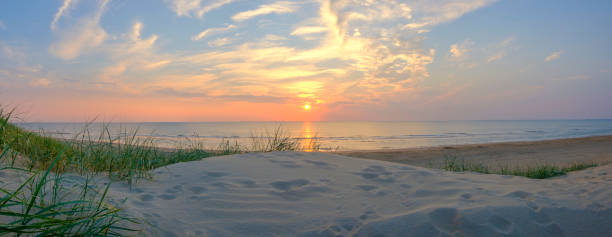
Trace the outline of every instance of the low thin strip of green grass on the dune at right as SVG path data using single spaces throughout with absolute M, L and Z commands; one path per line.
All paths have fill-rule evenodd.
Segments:
M 446 157 L 437 168 L 453 172 L 477 172 L 483 174 L 523 176 L 531 179 L 546 179 L 596 166 L 597 164 L 595 163 L 575 163 L 569 166 L 551 164 L 525 167 L 510 167 L 509 165 L 489 166 L 482 163 L 473 163 L 463 159 L 457 159 L 457 157 Z

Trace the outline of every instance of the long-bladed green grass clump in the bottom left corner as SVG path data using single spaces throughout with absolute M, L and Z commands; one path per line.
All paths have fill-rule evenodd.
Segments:
M 135 231 L 122 227 L 136 223 L 133 219 L 106 203 L 109 186 L 99 193 L 85 185 L 74 188 L 80 195 L 63 195 L 69 191 L 50 170 L 31 173 L 16 189 L 0 188 L 0 235 L 118 236 Z

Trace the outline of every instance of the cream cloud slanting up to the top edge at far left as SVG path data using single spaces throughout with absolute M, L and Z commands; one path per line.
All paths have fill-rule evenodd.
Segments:
M 72 28 L 61 32 L 60 40 L 49 48 L 53 55 L 69 60 L 82 54 L 83 51 L 91 50 L 100 46 L 108 37 L 108 34 L 100 26 L 100 19 L 106 10 L 110 0 L 103 0 L 92 16 L 84 17 Z

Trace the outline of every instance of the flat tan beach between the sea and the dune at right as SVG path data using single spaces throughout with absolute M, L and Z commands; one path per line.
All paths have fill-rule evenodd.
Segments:
M 424 147 L 409 149 L 341 151 L 339 155 L 436 167 L 448 158 L 499 166 L 567 166 L 579 163 L 612 162 L 612 136 L 594 136 L 545 141 Z

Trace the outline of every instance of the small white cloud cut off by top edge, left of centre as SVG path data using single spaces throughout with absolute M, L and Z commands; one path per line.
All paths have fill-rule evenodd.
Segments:
M 196 16 L 202 18 L 206 13 L 230 4 L 233 1 L 205 1 L 205 4 L 202 4 L 203 0 L 166 0 L 166 3 L 170 5 L 170 8 L 178 16 Z

